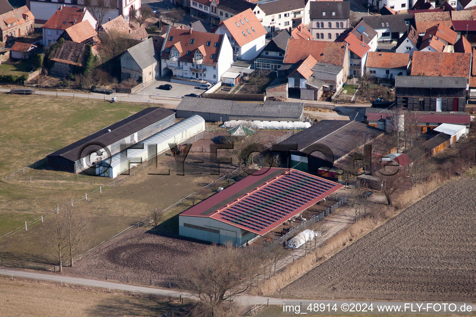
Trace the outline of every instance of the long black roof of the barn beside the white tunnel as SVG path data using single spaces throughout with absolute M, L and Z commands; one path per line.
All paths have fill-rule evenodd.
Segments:
M 73 162 L 80 159 L 81 151 L 90 145 L 110 145 L 129 135 L 142 130 L 149 125 L 152 125 L 169 115 L 174 115 L 174 112 L 162 107 L 150 107 L 134 115 L 130 115 L 112 125 L 101 129 L 79 141 L 76 141 L 62 149 L 55 151 L 47 156 L 62 156 Z M 111 130 L 108 132 L 108 130 Z

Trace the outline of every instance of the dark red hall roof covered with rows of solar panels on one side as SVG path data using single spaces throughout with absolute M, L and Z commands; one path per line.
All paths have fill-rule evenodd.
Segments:
M 264 235 L 341 187 L 295 169 L 288 173 L 270 168 L 261 175 L 249 175 L 180 216 L 208 217 Z

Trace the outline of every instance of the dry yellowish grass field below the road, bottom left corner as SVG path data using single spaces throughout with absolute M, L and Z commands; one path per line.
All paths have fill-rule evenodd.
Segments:
M 0 278 L 0 316 L 9 317 L 114 317 L 114 316 L 186 316 L 190 306 L 177 308 L 168 298 L 133 296 L 129 292 L 28 279 L 13 281 Z M 28 300 L 25 298 L 28 297 Z M 186 303 L 185 303 L 186 304 Z

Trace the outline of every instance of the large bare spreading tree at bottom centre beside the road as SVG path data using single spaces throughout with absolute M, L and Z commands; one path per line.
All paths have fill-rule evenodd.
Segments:
M 212 245 L 183 263 L 182 287 L 199 298 L 195 316 L 221 316 L 226 301 L 234 301 L 253 285 L 263 261 L 257 249 Z

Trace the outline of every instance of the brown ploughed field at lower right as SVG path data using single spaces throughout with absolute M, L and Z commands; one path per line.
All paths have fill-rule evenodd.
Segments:
M 294 298 L 476 298 L 475 179 L 448 183 L 289 284 Z

